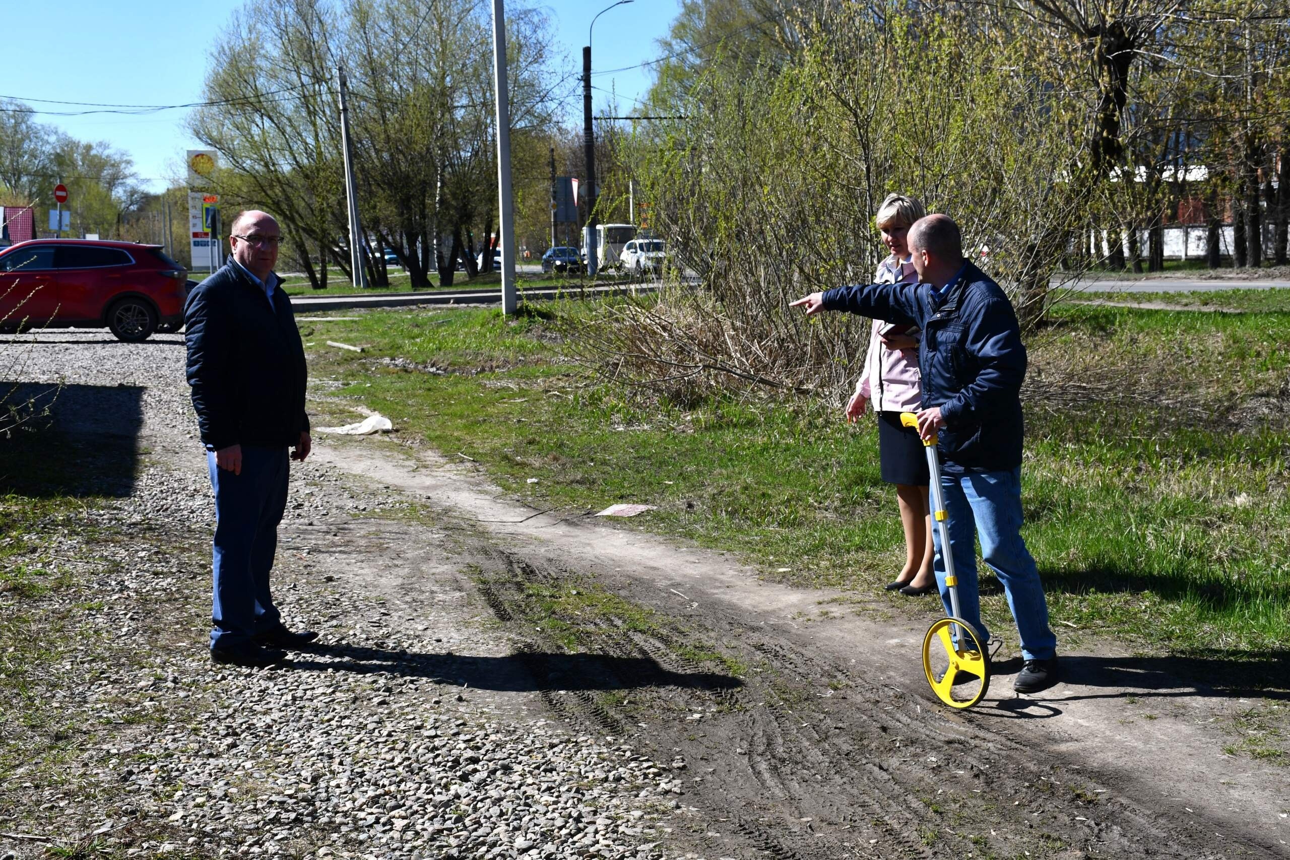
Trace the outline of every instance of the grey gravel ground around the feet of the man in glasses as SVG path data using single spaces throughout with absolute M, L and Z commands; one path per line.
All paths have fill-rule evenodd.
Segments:
M 663 856 L 673 819 L 691 814 L 679 802 L 685 762 L 573 734 L 533 692 L 457 677 L 457 655 L 504 656 L 504 632 L 471 614 L 452 576 L 417 598 L 377 575 L 399 566 L 374 561 L 382 548 L 444 543 L 381 487 L 293 468 L 275 593 L 288 624 L 321 629 L 324 647 L 286 668 L 212 667 L 214 516 L 179 338 L 35 340 L 22 348 L 26 380 L 67 384 L 54 429 L 103 435 L 104 456 L 141 431 L 141 462 L 133 480 L 88 471 L 75 490 L 119 498 L 28 535 L 28 561 L 59 571 L 62 588 L 0 593 L 0 618 L 44 649 L 0 717 L 0 857 L 59 846 L 128 857 Z M 440 553 L 404 572 L 427 563 L 457 562 Z M 13 667 L 23 649 L 8 651 Z

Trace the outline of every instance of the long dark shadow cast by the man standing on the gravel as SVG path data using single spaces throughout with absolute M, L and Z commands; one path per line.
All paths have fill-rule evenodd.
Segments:
M 508 692 L 639 687 L 720 691 L 743 686 L 743 682 L 733 676 L 713 672 L 673 672 L 657 660 L 644 656 L 547 651 L 519 651 L 506 656 L 417 654 L 343 642 L 315 643 L 308 649 L 307 656 L 290 660 L 285 668 L 303 672 L 388 673 L 396 677 L 430 678 L 436 683 Z

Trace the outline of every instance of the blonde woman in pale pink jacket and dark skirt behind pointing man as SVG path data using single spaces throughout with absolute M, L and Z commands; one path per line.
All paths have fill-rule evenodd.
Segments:
M 876 284 L 917 284 L 906 237 L 913 222 L 926 214 L 922 204 L 904 195 L 888 195 L 873 223 L 890 255 L 878 264 Z M 900 413 L 918 411 L 918 329 L 873 321 L 864 373 L 846 404 L 846 419 L 855 422 L 873 405 L 878 419 L 878 462 L 882 480 L 895 485 L 900 525 L 904 527 L 904 566 L 886 589 L 909 597 L 937 591 L 931 569 L 931 513 L 928 507 L 928 460 L 918 432 L 900 425 Z

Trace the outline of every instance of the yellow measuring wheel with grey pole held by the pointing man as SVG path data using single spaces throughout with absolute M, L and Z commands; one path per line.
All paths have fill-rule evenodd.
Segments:
M 918 429 L 918 416 L 900 413 L 900 423 Z M 949 523 L 946 500 L 940 491 L 940 462 L 937 459 L 937 437 L 922 440 L 931 476 L 931 517 L 940 533 L 940 554 L 946 562 L 946 588 L 949 589 L 949 618 L 943 618 L 928 628 L 922 637 L 922 673 L 937 698 L 951 708 L 971 708 L 986 698 L 989 690 L 989 656 L 986 642 L 977 630 L 958 618 L 958 578 L 955 576 L 955 558 L 949 552 Z

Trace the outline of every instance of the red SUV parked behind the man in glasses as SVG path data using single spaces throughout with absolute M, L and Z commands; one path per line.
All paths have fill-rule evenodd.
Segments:
M 143 340 L 183 325 L 187 271 L 160 245 L 36 239 L 0 250 L 0 330 L 107 326 Z

